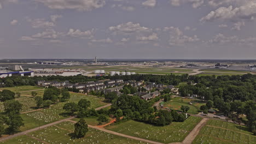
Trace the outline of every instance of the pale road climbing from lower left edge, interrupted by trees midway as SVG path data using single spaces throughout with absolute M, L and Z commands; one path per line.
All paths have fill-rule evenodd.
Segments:
M 101 107 L 97 107 L 95 110 L 100 110 L 100 109 L 103 109 L 105 107 L 108 107 L 110 106 L 111 104 L 107 104 L 107 105 L 104 105 L 104 106 L 101 106 Z M 34 128 L 34 129 L 30 129 L 30 130 L 26 130 L 26 131 L 22 131 L 21 133 L 17 133 L 17 134 L 14 134 L 14 135 L 9 135 L 9 136 L 6 136 L 6 137 L 2 137 L 0 139 L 0 142 L 1 141 L 5 141 L 5 140 L 8 140 L 8 139 L 12 139 L 16 136 L 20 136 L 20 135 L 25 135 L 27 133 L 30 133 L 32 131 L 36 131 L 36 130 L 39 130 L 39 129 L 43 129 L 43 128 L 46 128 L 46 127 L 49 127 L 51 125 L 55 125 L 55 124 L 58 124 L 58 123 L 61 123 L 61 122 L 65 122 L 65 121 L 68 121 L 68 120 L 71 120 L 73 119 L 74 117 L 69 117 L 69 118 L 65 118 L 65 119 L 61 119 L 60 121 L 56 121 L 56 122 L 53 122 L 53 123 L 49 123 L 49 124 L 45 124 L 45 125 L 42 125 L 40 127 L 37 127 L 37 128 Z

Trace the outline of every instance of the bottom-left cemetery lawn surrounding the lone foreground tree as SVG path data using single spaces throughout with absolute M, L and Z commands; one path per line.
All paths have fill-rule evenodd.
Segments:
M 36 137 L 36 139 L 41 141 L 40 143 L 144 143 L 91 128 L 89 128 L 85 137 L 72 139 L 73 131 L 74 123 L 62 122 L 42 130 L 28 133 L 28 136 Z M 31 139 L 28 136 L 19 136 L 4 143 L 38 143 L 37 140 Z

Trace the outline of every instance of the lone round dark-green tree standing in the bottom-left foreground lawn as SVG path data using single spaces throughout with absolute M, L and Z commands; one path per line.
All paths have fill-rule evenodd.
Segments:
M 86 124 L 84 119 L 80 119 L 79 122 L 74 124 L 74 135 L 77 138 L 84 137 L 88 131 L 88 124 Z

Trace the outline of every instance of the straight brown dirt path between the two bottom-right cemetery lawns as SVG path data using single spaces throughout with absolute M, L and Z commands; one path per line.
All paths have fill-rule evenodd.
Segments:
M 190 144 L 194 141 L 195 137 L 199 134 L 199 131 L 202 129 L 202 127 L 206 124 L 208 121 L 207 118 L 203 118 L 202 121 L 200 121 L 195 128 L 190 131 L 188 136 L 181 142 L 182 144 Z

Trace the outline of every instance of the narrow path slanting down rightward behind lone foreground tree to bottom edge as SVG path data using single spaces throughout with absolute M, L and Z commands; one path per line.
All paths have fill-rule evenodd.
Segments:
M 72 121 L 72 120 L 68 120 L 68 121 L 73 122 L 73 123 L 77 123 L 77 122 Z M 126 138 L 129 138 L 129 139 L 137 140 L 137 141 L 144 141 L 144 142 L 153 143 L 153 144 L 164 144 L 164 143 L 161 143 L 161 142 L 155 142 L 155 141 L 141 139 L 141 138 L 130 136 L 130 135 L 120 134 L 120 133 L 117 133 L 115 131 L 107 130 L 107 129 L 104 129 L 104 128 L 99 128 L 99 127 L 92 126 L 92 125 L 88 125 L 88 127 L 92 128 L 92 129 L 101 130 L 101 131 L 104 131 L 104 132 L 109 133 L 109 134 L 118 135 L 118 136 L 126 137 Z

